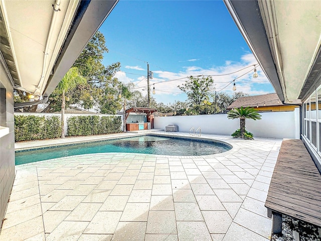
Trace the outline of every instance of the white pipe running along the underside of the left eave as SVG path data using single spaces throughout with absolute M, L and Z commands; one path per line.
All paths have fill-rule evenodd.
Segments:
M 37 91 L 40 92 L 43 89 L 43 85 L 44 85 L 44 81 L 43 80 L 45 78 L 45 73 L 46 73 L 47 57 L 49 55 L 48 54 L 48 50 L 49 50 L 49 46 L 50 46 L 50 42 L 51 42 L 51 36 L 52 36 L 53 29 L 54 29 L 54 26 L 55 26 L 56 18 L 57 18 L 58 12 L 60 11 L 59 5 L 60 5 L 60 0 L 56 0 L 55 4 L 52 5 L 54 12 L 53 12 L 53 15 L 51 17 L 50 29 L 49 29 L 47 42 L 46 42 L 46 47 L 45 47 L 45 52 L 44 52 L 44 64 L 43 64 L 43 67 L 42 67 L 42 73 L 41 73 L 41 77 L 40 77 L 39 83 L 36 86 L 35 94 L 37 94 L 36 93 Z M 40 86 L 40 84 L 41 84 L 41 86 Z

